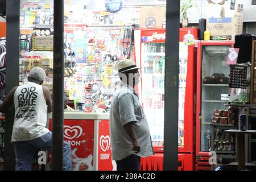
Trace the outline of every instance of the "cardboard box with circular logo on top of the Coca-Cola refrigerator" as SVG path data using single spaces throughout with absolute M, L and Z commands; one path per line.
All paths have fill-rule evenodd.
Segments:
M 166 21 L 166 7 L 141 8 L 141 28 L 162 28 Z

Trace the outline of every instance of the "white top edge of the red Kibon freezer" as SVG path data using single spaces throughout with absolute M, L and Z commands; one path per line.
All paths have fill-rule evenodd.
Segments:
M 52 113 L 47 118 L 52 119 Z M 64 112 L 64 119 L 109 119 L 109 113 Z

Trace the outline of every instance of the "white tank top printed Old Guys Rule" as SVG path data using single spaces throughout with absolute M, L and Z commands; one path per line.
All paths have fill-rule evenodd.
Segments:
M 14 93 L 14 106 L 11 142 L 32 140 L 49 132 L 46 128 L 47 105 L 42 85 L 28 82 L 18 86 Z

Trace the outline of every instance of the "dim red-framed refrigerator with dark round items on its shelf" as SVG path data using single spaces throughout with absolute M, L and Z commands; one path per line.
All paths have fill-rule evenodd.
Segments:
M 209 170 L 210 136 L 214 110 L 226 109 L 228 103 L 228 77 L 226 64 L 233 41 L 200 41 L 197 44 L 197 96 L 196 96 L 196 170 Z M 220 81 L 225 77 L 225 82 Z M 223 79 L 222 79 L 223 80 Z

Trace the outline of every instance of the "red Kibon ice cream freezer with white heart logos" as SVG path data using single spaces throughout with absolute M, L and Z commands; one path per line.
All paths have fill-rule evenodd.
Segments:
M 48 119 L 52 131 L 51 114 Z M 64 112 L 64 140 L 71 144 L 74 171 L 115 169 L 110 150 L 109 114 Z

